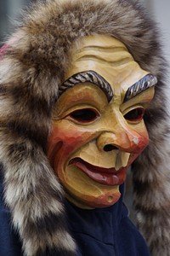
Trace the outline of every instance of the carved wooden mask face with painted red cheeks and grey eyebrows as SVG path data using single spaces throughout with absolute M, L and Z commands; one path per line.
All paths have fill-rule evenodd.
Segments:
M 127 168 L 148 144 L 143 115 L 156 78 L 109 36 L 83 38 L 59 87 L 48 158 L 67 198 L 107 207 L 120 198 Z

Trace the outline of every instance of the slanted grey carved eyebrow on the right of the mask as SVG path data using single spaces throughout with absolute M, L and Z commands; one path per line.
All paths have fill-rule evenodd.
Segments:
M 152 75 L 151 73 L 144 76 L 144 78 L 140 79 L 135 84 L 131 85 L 126 92 L 124 97 L 123 103 L 127 102 L 128 100 L 132 99 L 133 97 L 139 95 L 139 93 L 143 92 L 144 90 L 149 89 L 150 87 L 157 84 L 156 76 Z

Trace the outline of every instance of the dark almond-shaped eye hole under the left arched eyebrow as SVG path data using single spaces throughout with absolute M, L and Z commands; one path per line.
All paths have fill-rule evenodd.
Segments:
M 97 119 L 99 113 L 93 108 L 82 108 L 73 111 L 69 116 L 80 123 L 89 123 Z

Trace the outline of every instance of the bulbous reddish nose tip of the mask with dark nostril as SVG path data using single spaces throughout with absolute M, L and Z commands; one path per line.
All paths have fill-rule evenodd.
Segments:
M 148 143 L 148 135 L 140 136 L 136 131 L 128 128 L 117 129 L 118 131 L 103 131 L 98 139 L 97 146 L 100 151 L 121 149 L 124 152 L 138 154 Z

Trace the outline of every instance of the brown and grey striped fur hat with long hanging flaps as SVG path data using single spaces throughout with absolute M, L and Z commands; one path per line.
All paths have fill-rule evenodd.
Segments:
M 136 1 L 43 0 L 23 13 L 0 63 L 5 204 L 26 256 L 75 255 L 76 245 L 65 219 L 65 195 L 49 165 L 46 144 L 59 84 L 70 65 L 71 45 L 94 34 L 109 34 L 122 41 L 140 67 L 158 80 L 156 96 L 144 116 L 150 143 L 132 166 L 133 199 L 150 252 L 170 255 L 165 61 L 156 25 Z

